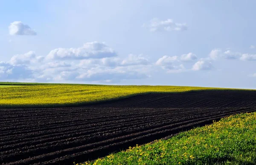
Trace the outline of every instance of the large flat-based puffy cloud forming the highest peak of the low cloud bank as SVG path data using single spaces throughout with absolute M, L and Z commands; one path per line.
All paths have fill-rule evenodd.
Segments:
M 105 43 L 87 42 L 80 48 L 57 48 L 51 50 L 46 59 L 101 59 L 116 56 L 116 52 Z

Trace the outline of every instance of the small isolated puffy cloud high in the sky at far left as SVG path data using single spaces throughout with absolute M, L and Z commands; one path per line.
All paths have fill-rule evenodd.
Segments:
M 9 34 L 10 35 L 30 35 L 35 36 L 36 32 L 32 30 L 29 25 L 25 25 L 20 21 L 12 22 L 9 25 Z

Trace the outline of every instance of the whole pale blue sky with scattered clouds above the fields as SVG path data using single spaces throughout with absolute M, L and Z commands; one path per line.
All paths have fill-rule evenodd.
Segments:
M 256 89 L 255 0 L 0 0 L 0 81 Z

